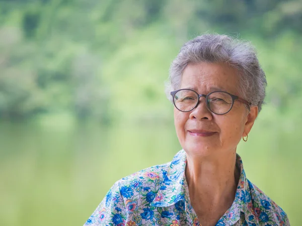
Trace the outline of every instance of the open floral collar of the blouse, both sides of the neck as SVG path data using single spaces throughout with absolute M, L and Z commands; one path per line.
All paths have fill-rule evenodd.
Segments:
M 185 180 L 185 169 L 186 169 L 186 153 L 184 150 L 179 151 L 173 158 L 168 171 L 164 177 L 164 181 L 156 194 L 151 205 L 153 206 L 171 206 L 179 201 L 184 203 L 189 202 L 186 200 L 186 192 L 188 192 L 187 183 Z M 235 200 L 231 208 L 225 212 L 223 216 L 232 219 L 232 222 L 239 220 L 240 214 L 244 213 L 245 217 L 248 218 L 247 213 L 253 213 L 253 203 L 250 193 L 249 181 L 246 177 L 241 157 L 237 154 L 236 166 L 240 169 L 240 178 L 238 187 L 236 190 Z M 187 205 L 185 205 L 187 207 Z M 235 214 L 236 217 L 232 217 Z M 256 220 L 256 218 L 254 217 Z M 251 217 L 249 222 L 251 222 Z M 258 222 L 255 222 L 256 224 Z

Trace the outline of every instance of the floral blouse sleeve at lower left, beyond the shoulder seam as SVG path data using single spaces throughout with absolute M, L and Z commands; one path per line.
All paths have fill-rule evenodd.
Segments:
M 86 221 L 86 225 L 125 225 L 126 221 L 125 204 L 121 196 L 118 182 L 116 182 L 99 204 L 97 209 Z

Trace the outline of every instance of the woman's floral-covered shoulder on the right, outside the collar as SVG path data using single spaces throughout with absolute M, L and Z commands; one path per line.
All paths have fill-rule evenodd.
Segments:
M 259 222 L 278 223 L 278 225 L 289 225 L 288 217 L 284 210 L 269 198 L 252 182 L 249 182 L 253 209 Z

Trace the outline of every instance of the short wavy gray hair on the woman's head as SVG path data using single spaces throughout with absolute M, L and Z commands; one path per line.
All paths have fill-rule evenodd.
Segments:
M 265 73 L 262 70 L 255 48 L 246 41 L 228 35 L 204 34 L 186 42 L 177 57 L 173 60 L 169 81 L 166 83 L 168 99 L 172 100 L 170 92 L 180 87 L 181 76 L 189 63 L 225 62 L 239 71 L 239 93 L 242 98 L 262 108 L 267 85 Z

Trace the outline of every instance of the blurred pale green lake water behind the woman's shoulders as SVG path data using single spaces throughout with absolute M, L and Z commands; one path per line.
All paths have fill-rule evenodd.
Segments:
M 258 121 L 238 146 L 246 174 L 299 225 L 299 127 Z M 7 226 L 83 225 L 116 180 L 181 149 L 172 123 L 2 122 L 0 135 L 0 224 Z

